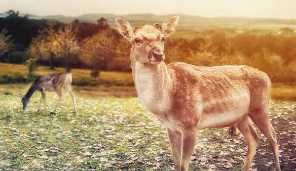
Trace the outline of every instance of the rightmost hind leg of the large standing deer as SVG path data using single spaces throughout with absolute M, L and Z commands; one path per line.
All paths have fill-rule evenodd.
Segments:
M 269 122 L 269 107 L 262 107 L 256 111 L 249 114 L 255 125 L 261 130 L 261 132 L 266 136 L 274 156 L 275 170 L 281 171 L 279 162 L 279 151 L 276 140 L 276 133 Z

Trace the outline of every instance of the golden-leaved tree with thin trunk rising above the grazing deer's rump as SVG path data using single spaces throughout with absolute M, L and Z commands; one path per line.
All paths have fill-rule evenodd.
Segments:
M 71 55 L 78 53 L 80 46 L 76 38 L 77 27 L 73 28 L 72 23 L 65 26 L 65 28 L 60 27 L 58 32 L 55 34 L 56 41 L 59 43 L 60 51 L 59 56 L 67 56 L 67 72 L 70 72 L 71 68 Z

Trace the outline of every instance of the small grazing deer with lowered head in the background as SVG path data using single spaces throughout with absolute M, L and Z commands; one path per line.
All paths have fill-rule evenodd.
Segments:
M 76 102 L 74 94 L 71 91 L 71 83 L 72 83 L 72 73 L 58 73 L 58 74 L 46 74 L 43 76 L 37 76 L 37 78 L 34 80 L 33 84 L 30 86 L 27 94 L 22 95 L 19 94 L 22 97 L 22 103 L 23 103 L 23 109 L 26 110 L 28 104 L 30 103 L 30 98 L 34 94 L 36 90 L 41 92 L 41 98 L 40 98 L 40 104 L 38 108 L 38 112 L 40 111 L 40 106 L 42 99 L 44 100 L 45 104 L 48 106 L 50 113 L 54 113 L 58 106 L 61 103 L 61 100 L 63 99 L 62 94 L 62 87 L 72 96 L 73 103 L 74 103 L 74 114 L 76 114 Z M 46 101 L 45 98 L 45 91 L 55 91 L 59 95 L 59 102 L 52 111 L 51 107 Z

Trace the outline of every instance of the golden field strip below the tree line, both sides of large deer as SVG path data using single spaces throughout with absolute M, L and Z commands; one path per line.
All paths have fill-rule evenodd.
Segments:
M 48 67 L 42 66 L 38 67 L 36 74 L 44 75 L 59 72 L 65 72 L 65 69 L 55 68 L 55 70 L 50 70 Z M 137 96 L 132 73 L 101 72 L 100 77 L 96 79 L 90 78 L 90 70 L 72 69 L 72 73 L 73 85 L 86 85 L 79 88 L 76 87 L 79 92 L 93 93 L 100 96 L 111 95 L 114 97 Z M 13 76 L 19 74 L 24 76 L 28 74 L 27 68 L 24 65 L 0 63 L 0 81 L 3 75 Z M 102 86 L 108 86 L 109 88 L 103 88 Z M 122 86 L 129 86 L 131 88 L 126 89 L 126 87 Z M 271 96 L 273 99 L 296 100 L 296 86 L 275 83 L 271 90 Z

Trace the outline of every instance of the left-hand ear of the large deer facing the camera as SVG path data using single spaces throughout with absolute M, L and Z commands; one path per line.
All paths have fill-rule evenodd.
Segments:
M 130 24 L 121 19 L 121 18 L 116 18 L 115 19 L 116 25 L 118 32 L 125 38 L 127 39 L 130 43 L 133 42 L 133 29 L 130 26 Z

